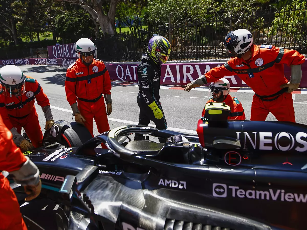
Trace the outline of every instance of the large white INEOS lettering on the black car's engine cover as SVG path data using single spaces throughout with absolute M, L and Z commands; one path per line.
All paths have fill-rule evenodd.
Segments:
M 244 148 L 247 149 L 247 145 L 251 145 L 254 149 L 259 150 L 273 150 L 273 146 L 279 151 L 289 151 L 295 149 L 298 152 L 307 151 L 307 134 L 305 132 L 298 132 L 295 137 L 289 132 L 278 132 L 273 136 L 272 132 L 252 132 L 250 135 L 248 132 L 236 132 L 237 139 L 240 140 L 240 136 L 244 135 Z M 303 140 L 304 138 L 305 140 Z

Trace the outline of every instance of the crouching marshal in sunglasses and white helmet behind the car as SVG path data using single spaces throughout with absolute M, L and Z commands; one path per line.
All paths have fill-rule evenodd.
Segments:
M 225 102 L 231 109 L 230 116 L 227 118 L 228 120 L 245 120 L 245 113 L 241 102 L 237 98 L 231 97 L 229 92 L 230 83 L 227 79 L 221 78 L 216 82 L 211 82 L 209 86 L 209 95 L 212 95 L 212 98 L 210 98 L 207 103 Z M 204 108 L 201 114 L 202 117 L 204 117 L 205 112 Z

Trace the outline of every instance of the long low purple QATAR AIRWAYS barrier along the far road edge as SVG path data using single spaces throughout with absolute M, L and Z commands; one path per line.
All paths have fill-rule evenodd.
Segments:
M 20 65 L 20 64 L 34 64 L 34 65 L 60 65 L 70 66 L 76 59 L 10 59 L 0 60 L 0 65 Z M 139 62 L 130 63 L 105 63 L 112 80 L 138 82 L 137 67 Z M 200 62 L 200 63 L 168 63 L 161 67 L 161 84 L 164 85 L 185 85 L 199 76 L 208 72 L 214 67 L 221 66 L 224 62 Z M 285 76 L 290 79 L 291 68 L 284 65 Z M 300 88 L 307 88 L 307 58 L 302 64 L 303 76 L 301 79 Z M 230 82 L 231 87 L 248 87 L 237 75 L 226 76 Z M 209 85 L 209 84 L 208 84 Z

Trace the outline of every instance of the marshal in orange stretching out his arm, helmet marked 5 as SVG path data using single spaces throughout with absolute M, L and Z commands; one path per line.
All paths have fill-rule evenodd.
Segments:
M 278 121 L 295 122 L 291 92 L 300 85 L 305 57 L 295 50 L 254 45 L 246 29 L 229 32 L 224 45 L 234 58 L 183 86 L 185 91 L 237 74 L 255 92 L 251 121 L 265 121 L 271 112 Z M 290 81 L 284 76 L 284 64 L 291 67 Z

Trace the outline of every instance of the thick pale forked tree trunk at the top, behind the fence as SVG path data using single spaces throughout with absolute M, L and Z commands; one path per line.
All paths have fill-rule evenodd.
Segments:
M 115 33 L 115 12 L 116 5 L 119 0 L 62 0 L 77 4 L 91 15 L 94 21 L 96 21 L 104 35 L 113 35 Z M 105 12 L 108 12 L 107 14 Z

